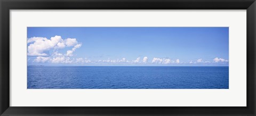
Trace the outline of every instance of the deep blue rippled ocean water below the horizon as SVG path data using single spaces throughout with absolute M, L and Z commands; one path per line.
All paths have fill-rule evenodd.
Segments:
M 28 89 L 228 89 L 229 67 L 28 66 Z

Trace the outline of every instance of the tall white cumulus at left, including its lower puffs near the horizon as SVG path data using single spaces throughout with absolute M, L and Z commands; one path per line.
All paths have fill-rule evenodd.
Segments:
M 81 59 L 70 59 L 77 48 L 81 47 L 82 44 L 78 44 L 76 38 L 62 39 L 61 36 L 54 36 L 50 39 L 45 37 L 32 37 L 27 39 L 28 44 L 28 56 L 37 56 L 34 62 L 50 62 L 50 63 L 74 63 L 80 62 Z M 58 53 L 58 49 L 71 47 L 73 48 L 67 51 L 66 54 Z M 52 54 L 50 50 L 52 49 Z M 85 62 L 85 61 L 83 61 Z

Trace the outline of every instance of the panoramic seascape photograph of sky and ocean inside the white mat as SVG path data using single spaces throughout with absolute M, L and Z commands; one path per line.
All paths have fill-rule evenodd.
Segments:
M 229 89 L 229 28 L 27 27 L 27 89 Z

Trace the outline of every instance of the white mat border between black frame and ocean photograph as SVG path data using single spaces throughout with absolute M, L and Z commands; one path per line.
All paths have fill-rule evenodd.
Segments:
M 11 10 L 10 19 L 10 106 L 246 106 L 246 10 Z M 229 89 L 27 89 L 27 27 L 229 27 Z

